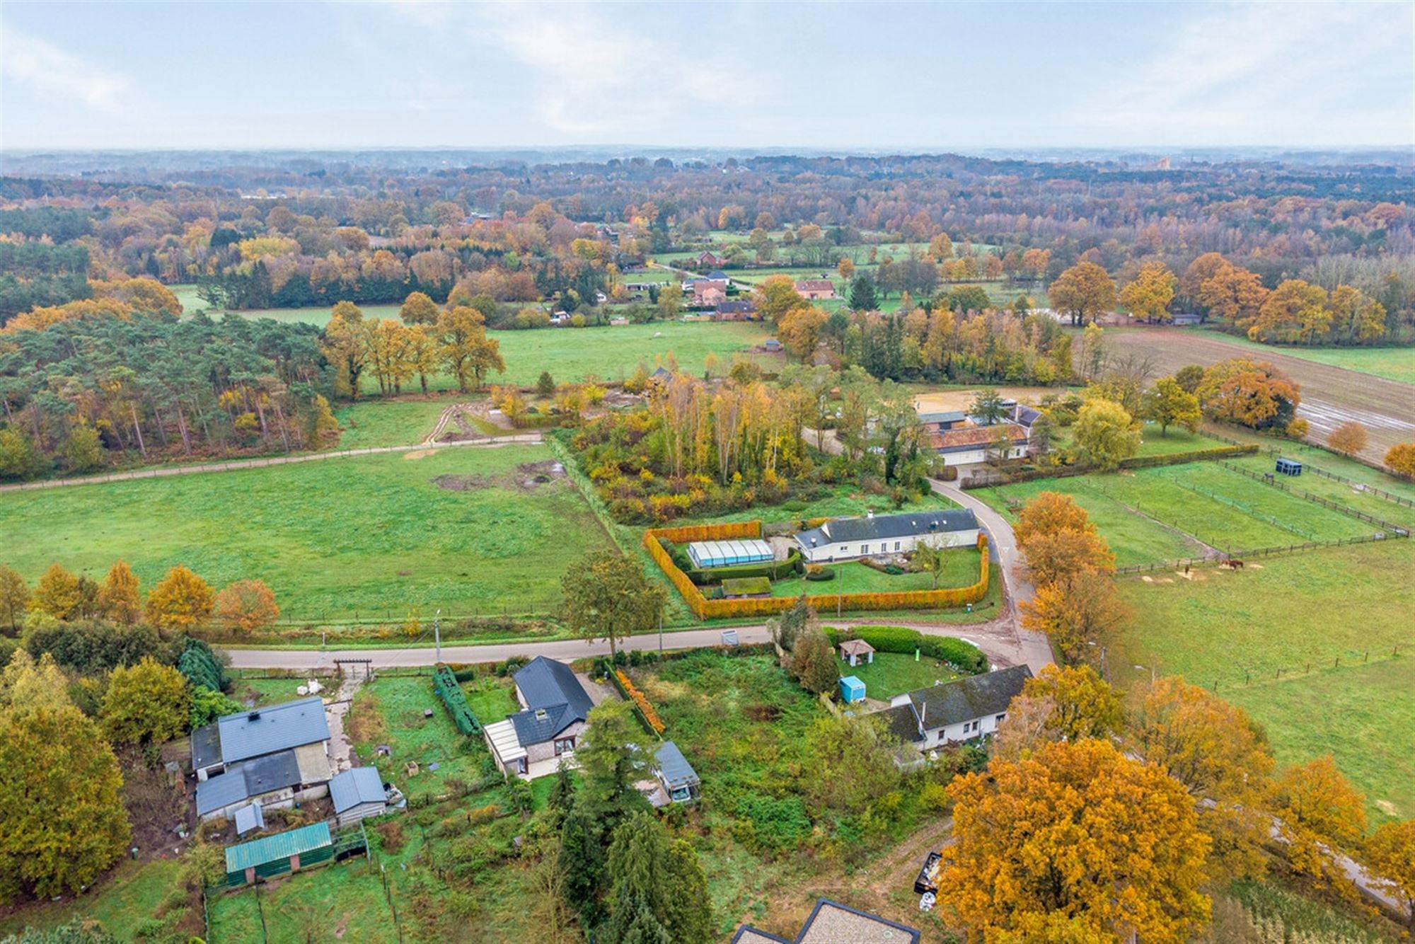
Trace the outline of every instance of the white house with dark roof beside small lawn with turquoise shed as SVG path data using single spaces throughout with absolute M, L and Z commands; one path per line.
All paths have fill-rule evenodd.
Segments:
M 1032 678 L 1026 665 L 969 675 L 896 695 L 879 712 L 889 732 L 920 750 L 986 737 L 1007 716 L 1007 705 Z

